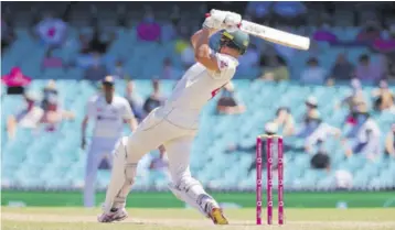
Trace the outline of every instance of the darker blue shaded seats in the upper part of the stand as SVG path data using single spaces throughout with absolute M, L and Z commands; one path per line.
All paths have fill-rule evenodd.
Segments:
M 339 33 L 337 35 L 343 40 L 354 39 L 357 30 L 357 28 L 346 28 L 346 30 L 344 29 L 342 31 L 346 31 L 348 33 Z M 334 30 L 334 32 L 337 33 L 337 30 Z M 29 35 L 28 29 L 18 29 L 17 34 L 18 39 L 13 43 L 12 48 L 4 53 L 3 58 L 1 59 L 2 75 L 9 73 L 11 67 L 22 63 L 20 67 L 23 73 L 28 76 L 33 76 L 34 78 L 49 79 L 54 76 L 66 79 L 83 78 L 82 69 L 77 68 L 70 68 L 67 70 L 42 70 L 41 63 L 47 47 L 45 47 L 40 41 L 33 40 Z M 174 42 L 167 42 L 164 44 L 141 42 L 136 37 L 136 30 L 128 29 L 118 29 L 117 34 L 117 39 L 113 42 L 108 52 L 103 57 L 103 63 L 108 67 L 108 69 L 114 69 L 115 62 L 120 58 L 125 61 L 126 70 L 131 73 L 135 78 L 149 79 L 152 76 L 159 75 L 166 57 L 169 57 L 172 61 L 175 68 L 182 68 L 180 55 L 177 55 L 174 52 Z M 311 35 L 311 32 L 305 32 L 303 34 Z M 259 40 L 253 40 L 253 43 L 257 46 L 263 45 L 263 42 Z M 53 55 L 61 57 L 64 62 L 68 63 L 77 57 L 79 46 L 81 44 L 78 41 L 77 30 L 71 28 L 66 45 L 56 50 Z M 318 56 L 321 65 L 324 68 L 330 69 L 335 61 L 335 56 L 341 52 L 344 52 L 344 48 L 321 45 L 320 55 Z M 356 64 L 361 54 L 370 54 L 370 51 L 364 47 L 353 47 L 348 48 L 346 51 L 346 56 L 353 64 Z M 291 77 L 293 79 L 297 79 L 300 76 L 307 59 L 310 56 L 317 56 L 317 53 L 316 51 L 298 52 L 297 55 L 298 58 L 290 58 L 288 63 L 291 69 Z M 23 62 L 21 62 L 22 59 Z M 237 74 L 236 78 L 255 77 L 258 74 L 257 70 L 258 69 L 250 69 L 243 73 L 243 75 Z

